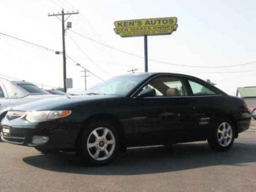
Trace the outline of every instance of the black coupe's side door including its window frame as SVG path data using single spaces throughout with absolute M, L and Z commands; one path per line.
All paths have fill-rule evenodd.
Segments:
M 144 89 L 154 89 L 151 97 L 138 97 Z M 133 96 L 133 122 L 143 144 L 184 140 L 181 122 L 193 112 L 181 76 L 159 75 L 146 82 Z

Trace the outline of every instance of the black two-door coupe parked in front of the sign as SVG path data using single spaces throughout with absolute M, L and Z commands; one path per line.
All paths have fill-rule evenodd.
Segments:
M 109 163 L 126 147 L 207 140 L 228 150 L 248 129 L 245 102 L 188 75 L 142 73 L 113 77 L 84 96 L 16 106 L 2 121 L 2 139 L 43 153 L 76 150 Z

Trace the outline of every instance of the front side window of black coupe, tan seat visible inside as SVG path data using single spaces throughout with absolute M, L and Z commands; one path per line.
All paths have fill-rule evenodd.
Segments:
M 177 77 L 156 77 L 146 84 L 143 89 L 154 89 L 156 97 L 186 96 L 182 80 Z

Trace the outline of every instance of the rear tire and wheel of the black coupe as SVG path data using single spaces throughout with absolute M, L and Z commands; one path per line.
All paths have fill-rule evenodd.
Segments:
M 227 151 L 234 142 L 234 127 L 229 121 L 221 121 L 208 138 L 208 144 L 214 151 Z

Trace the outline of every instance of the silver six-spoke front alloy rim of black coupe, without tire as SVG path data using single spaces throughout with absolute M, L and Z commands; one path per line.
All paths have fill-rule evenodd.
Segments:
M 90 156 L 97 161 L 103 161 L 111 157 L 115 147 L 115 136 L 107 127 L 97 127 L 87 139 L 87 150 Z

